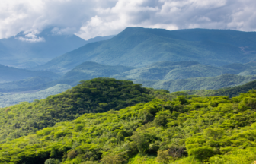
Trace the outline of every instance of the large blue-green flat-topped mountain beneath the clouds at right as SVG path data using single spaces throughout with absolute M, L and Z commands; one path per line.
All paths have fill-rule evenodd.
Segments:
M 133 67 L 155 61 L 198 61 L 213 66 L 247 63 L 256 59 L 255 36 L 254 32 L 235 30 L 128 27 L 112 39 L 87 44 L 37 69 L 66 72 L 85 61 Z

